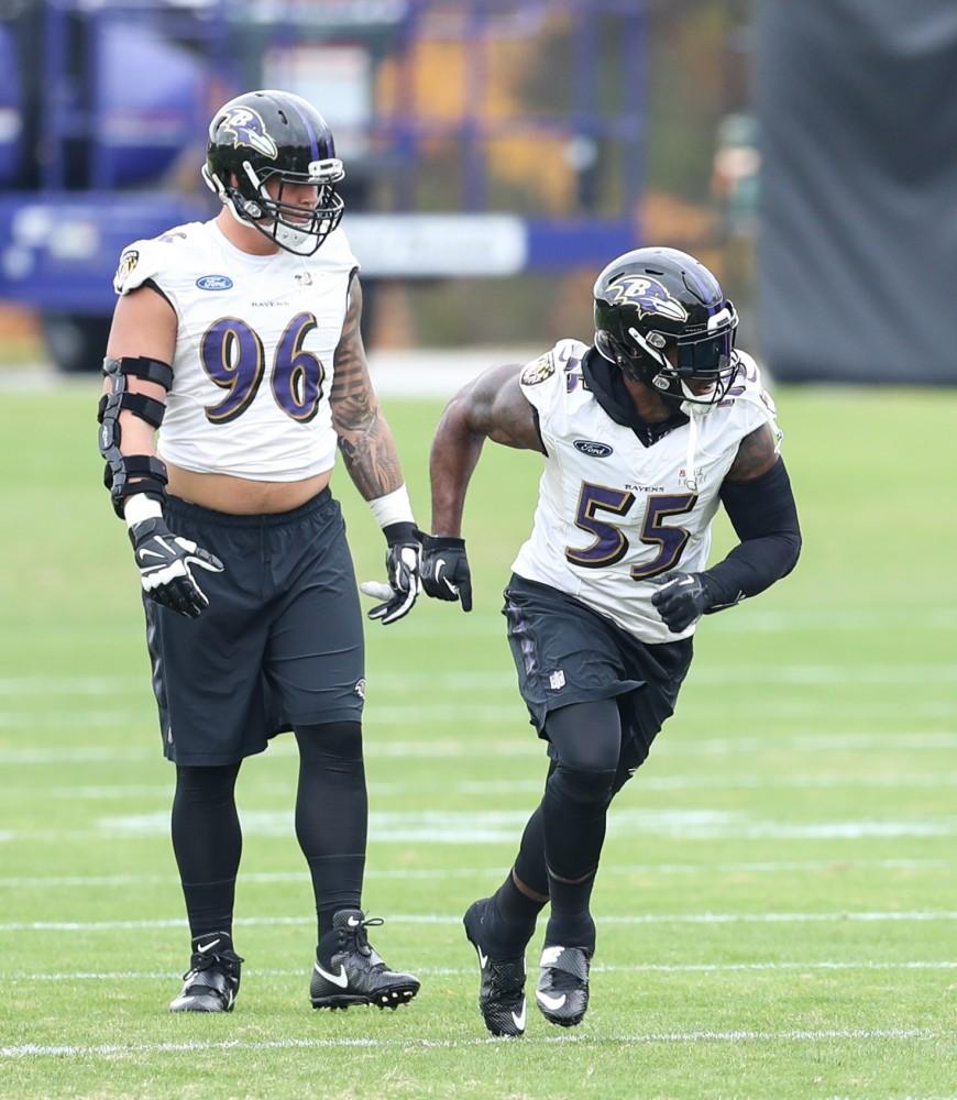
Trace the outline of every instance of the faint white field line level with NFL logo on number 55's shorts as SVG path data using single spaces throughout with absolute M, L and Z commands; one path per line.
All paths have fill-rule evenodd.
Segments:
M 728 667 L 715 662 L 694 672 L 696 683 L 727 683 Z M 840 667 L 836 664 L 781 664 L 761 669 L 762 683 L 816 685 L 816 684 L 943 684 L 957 682 L 957 663 L 899 664 L 868 663 Z M 495 688 L 515 688 L 513 672 L 380 672 L 372 688 L 393 691 L 435 693 L 443 689 L 476 691 Z M 88 694 L 88 695 L 143 695 L 143 684 L 129 676 L 0 676 L 0 695 Z

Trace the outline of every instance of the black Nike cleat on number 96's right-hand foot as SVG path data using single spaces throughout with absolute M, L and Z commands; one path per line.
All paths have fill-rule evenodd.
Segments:
M 369 943 L 365 930 L 382 924 L 380 917 L 366 921 L 359 909 L 341 909 L 332 917 L 328 969 L 316 950 L 309 999 L 314 1009 L 348 1009 L 350 1004 L 377 1004 L 397 1009 L 419 991 L 419 979 L 410 974 L 389 970 Z M 321 945 L 320 945 L 321 946 Z

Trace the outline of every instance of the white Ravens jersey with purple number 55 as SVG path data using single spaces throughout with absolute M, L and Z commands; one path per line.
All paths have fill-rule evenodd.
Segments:
M 586 387 L 578 340 L 562 340 L 521 372 L 521 391 L 538 411 L 548 455 L 531 537 L 513 570 L 566 592 L 641 641 L 674 641 L 651 605 L 670 570 L 707 565 L 718 492 L 749 432 L 770 425 L 774 405 L 755 361 L 728 396 L 650 447 L 617 424 Z

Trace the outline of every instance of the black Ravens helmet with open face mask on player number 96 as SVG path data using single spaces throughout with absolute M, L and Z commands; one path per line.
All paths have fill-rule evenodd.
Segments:
M 274 196 L 266 183 L 278 177 Z M 287 252 L 311 256 L 342 218 L 336 185 L 345 176 L 332 131 L 316 110 L 286 91 L 250 91 L 221 107 L 209 124 L 202 178 L 233 216 Z M 311 216 L 283 201 L 286 184 L 318 188 Z

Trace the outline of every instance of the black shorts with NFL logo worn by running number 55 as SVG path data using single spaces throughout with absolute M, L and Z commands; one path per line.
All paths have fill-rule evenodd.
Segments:
M 691 664 L 691 638 L 646 645 L 581 600 L 515 574 L 505 590 L 503 614 L 518 690 L 538 736 L 548 740 L 550 711 L 617 698 L 622 763 L 642 763 L 674 713 Z

